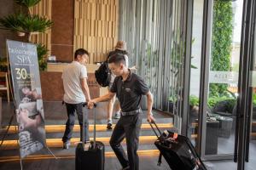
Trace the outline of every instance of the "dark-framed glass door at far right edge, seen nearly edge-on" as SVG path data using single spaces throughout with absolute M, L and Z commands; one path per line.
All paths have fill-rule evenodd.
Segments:
M 256 4 L 245 1 L 242 26 L 241 68 L 237 103 L 236 144 L 234 160 L 237 169 L 255 169 L 255 104 L 256 104 Z

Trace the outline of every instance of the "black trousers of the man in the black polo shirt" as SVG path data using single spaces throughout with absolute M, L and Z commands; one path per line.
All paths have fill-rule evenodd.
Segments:
M 142 114 L 133 116 L 121 116 L 119 122 L 117 122 L 113 129 L 113 133 L 109 141 L 109 144 L 119 159 L 122 167 L 127 167 L 129 165 L 130 170 L 139 169 L 139 157 L 137 155 L 137 148 L 141 126 Z M 123 139 L 126 139 L 128 159 L 125 154 L 125 150 L 120 144 Z

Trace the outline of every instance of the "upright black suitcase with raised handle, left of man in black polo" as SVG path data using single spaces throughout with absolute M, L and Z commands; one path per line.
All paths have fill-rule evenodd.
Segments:
M 86 105 L 86 103 L 84 104 Z M 95 105 L 96 106 L 96 105 Z M 105 147 L 102 142 L 96 141 L 96 111 L 94 110 L 94 137 L 90 141 L 88 150 L 84 150 L 84 142 L 78 144 L 76 148 L 75 166 L 76 170 L 104 170 Z M 84 123 L 84 116 L 83 116 Z M 84 141 L 84 124 L 82 132 L 82 141 Z

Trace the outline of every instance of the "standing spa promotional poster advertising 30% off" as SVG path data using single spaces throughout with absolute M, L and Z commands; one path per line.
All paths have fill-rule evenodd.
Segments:
M 32 43 L 7 40 L 7 48 L 19 123 L 20 157 L 24 158 L 45 146 L 37 47 Z

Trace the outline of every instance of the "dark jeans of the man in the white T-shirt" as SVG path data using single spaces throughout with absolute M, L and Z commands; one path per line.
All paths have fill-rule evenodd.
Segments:
M 89 140 L 89 122 L 88 122 L 88 110 L 85 109 L 82 105 L 82 103 L 79 104 L 67 104 L 67 122 L 66 122 L 66 129 L 65 133 L 63 135 L 62 141 L 65 143 L 69 141 L 72 138 L 73 133 L 73 126 L 75 123 L 75 112 L 77 112 L 78 118 L 79 118 L 79 125 L 80 125 L 80 141 L 82 141 L 82 127 L 83 127 L 83 113 L 85 116 L 85 122 L 84 122 L 84 142 Z

